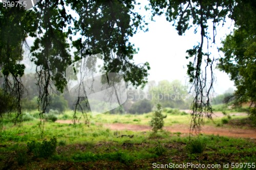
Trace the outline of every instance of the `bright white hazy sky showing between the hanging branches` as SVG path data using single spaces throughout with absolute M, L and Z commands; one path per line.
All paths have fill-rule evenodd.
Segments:
M 144 1 L 146 2 L 146 1 Z M 150 12 L 145 12 L 144 5 L 141 5 L 141 9 L 137 7 L 136 11 L 145 14 L 147 18 L 150 16 Z M 72 12 L 73 13 L 73 12 Z M 186 50 L 192 48 L 197 42 L 200 41 L 200 29 L 197 34 L 194 33 L 194 28 L 191 28 L 185 33 L 184 36 L 179 36 L 172 23 L 165 20 L 165 16 L 156 16 L 154 21 L 148 21 L 148 32 L 139 31 L 136 35 L 130 38 L 130 41 L 135 44 L 135 47 L 139 47 L 139 52 L 134 56 L 135 63 L 149 62 L 151 70 L 148 81 L 155 80 L 156 82 L 161 80 L 181 80 L 183 83 L 187 83 L 186 64 L 188 60 L 185 59 Z M 221 39 L 224 39 L 226 34 L 229 34 L 232 27 L 232 22 L 227 20 L 225 27 L 217 28 L 216 44 L 211 49 L 211 53 L 215 58 L 219 57 L 219 53 L 216 50 L 216 46 L 221 46 Z M 33 39 L 28 37 L 28 43 L 32 45 Z M 28 58 L 25 58 L 26 72 L 34 71 L 35 67 L 31 68 L 32 64 L 28 62 Z M 216 82 L 214 89 L 216 94 L 225 92 L 229 87 L 233 87 L 233 82 L 229 80 L 228 75 L 225 72 L 221 72 L 217 69 L 215 71 Z M 234 87 L 233 87 L 234 88 Z

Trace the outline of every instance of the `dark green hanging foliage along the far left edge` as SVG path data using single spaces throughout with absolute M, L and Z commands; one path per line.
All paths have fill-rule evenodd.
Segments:
M 0 77 L 4 77 L 4 93 L 13 98 L 12 107 L 7 112 L 15 110 L 17 120 L 22 120 L 22 95 L 24 86 L 20 79 L 24 75 L 25 65 L 19 62 L 23 59 L 23 45 L 26 45 L 28 34 L 35 32 L 36 18 L 33 11 L 21 8 L 5 8 L 0 5 Z M 1 106 L 2 107 L 2 106 Z M 2 117 L 1 113 L 1 117 Z

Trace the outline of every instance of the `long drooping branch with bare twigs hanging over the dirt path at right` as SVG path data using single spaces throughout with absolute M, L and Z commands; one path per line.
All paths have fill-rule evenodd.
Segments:
M 190 92 L 195 95 L 191 104 L 192 118 L 190 132 L 200 132 L 203 118 L 211 118 L 210 92 L 214 83 L 213 66 L 215 57 L 209 53 L 208 21 L 212 21 L 212 43 L 216 42 L 216 24 L 225 21 L 236 4 L 235 1 L 150 1 L 153 15 L 165 13 L 166 20 L 174 22 L 179 35 L 183 35 L 191 26 L 201 29 L 201 41 L 192 49 L 187 50 L 187 75 L 191 83 Z M 220 8 L 221 7 L 221 8 Z M 191 24 L 192 23 L 192 24 Z M 204 40 L 207 39 L 207 53 L 204 52 Z M 202 67 L 205 65 L 204 69 Z M 210 75 L 209 75 L 210 74 Z

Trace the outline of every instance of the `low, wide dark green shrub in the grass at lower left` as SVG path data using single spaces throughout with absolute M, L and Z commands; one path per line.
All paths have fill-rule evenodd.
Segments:
M 27 143 L 28 152 L 32 152 L 35 157 L 46 158 L 52 156 L 57 147 L 57 139 L 51 138 L 50 141 L 44 140 L 42 143 L 31 141 Z

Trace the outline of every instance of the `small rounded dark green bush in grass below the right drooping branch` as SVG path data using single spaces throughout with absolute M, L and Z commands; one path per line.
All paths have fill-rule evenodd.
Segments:
M 205 147 L 206 147 L 206 141 L 202 138 L 191 140 L 187 145 L 187 149 L 191 154 L 203 153 L 205 150 Z

